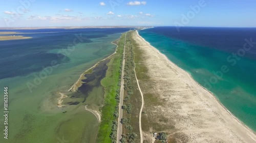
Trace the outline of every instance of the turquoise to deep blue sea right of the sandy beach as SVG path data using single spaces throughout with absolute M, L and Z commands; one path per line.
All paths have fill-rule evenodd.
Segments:
M 139 34 L 256 131 L 256 28 L 154 27 Z

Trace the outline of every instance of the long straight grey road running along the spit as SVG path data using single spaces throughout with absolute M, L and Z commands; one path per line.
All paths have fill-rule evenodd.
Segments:
M 119 116 L 118 116 L 118 125 L 117 125 L 117 135 L 116 135 L 116 142 L 119 143 L 120 139 L 122 138 L 122 124 L 121 124 L 121 119 L 123 118 L 123 110 L 122 110 L 122 105 L 123 105 L 123 84 L 124 84 L 124 65 L 125 65 L 125 44 L 126 44 L 126 33 L 124 37 L 124 45 L 123 45 L 123 65 L 122 65 L 122 76 L 121 76 L 121 87 L 120 87 L 120 102 L 119 102 Z

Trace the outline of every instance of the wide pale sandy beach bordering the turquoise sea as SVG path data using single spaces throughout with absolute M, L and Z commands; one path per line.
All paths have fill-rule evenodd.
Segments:
M 163 115 L 170 114 L 166 118 L 175 125 L 176 131 L 169 132 L 185 134 L 188 142 L 256 142 L 255 133 L 234 117 L 212 93 L 136 33 L 134 38 L 145 54 L 143 62 L 149 69 L 151 82 L 160 84 L 148 92 L 158 92 L 159 99 L 166 101 L 166 105 L 152 109 Z M 159 74 L 159 70 L 164 72 Z

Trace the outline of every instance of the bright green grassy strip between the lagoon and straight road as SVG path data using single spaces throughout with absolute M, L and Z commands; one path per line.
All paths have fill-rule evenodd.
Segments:
M 101 108 L 102 117 L 99 125 L 97 143 L 108 143 L 116 141 L 116 124 L 119 103 L 119 92 L 120 92 L 120 80 L 121 80 L 121 67 L 122 67 L 122 56 L 123 56 L 123 44 L 124 34 L 118 41 L 115 41 L 118 47 L 116 54 L 111 56 L 106 71 L 106 76 L 101 80 L 101 84 L 104 87 L 105 99 L 104 106 Z

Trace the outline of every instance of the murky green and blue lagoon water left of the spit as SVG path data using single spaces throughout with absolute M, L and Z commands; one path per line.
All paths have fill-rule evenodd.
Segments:
M 32 39 L 0 41 L 0 87 L 8 87 L 8 139 L 3 137 L 0 102 L 0 142 L 95 142 L 98 121 L 84 105 L 98 108 L 104 96 L 98 85 L 87 90 L 83 103 L 57 107 L 80 74 L 115 52 L 112 41 L 128 28 L 0 30 Z M 96 91 L 96 92 L 94 92 Z M 2 96 L 3 98 L 3 96 Z M 63 103 L 70 102 L 65 98 Z M 72 100 L 76 101 L 76 97 Z

